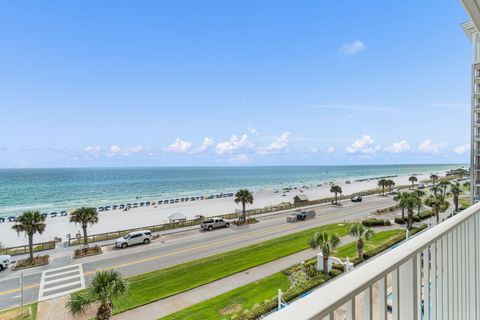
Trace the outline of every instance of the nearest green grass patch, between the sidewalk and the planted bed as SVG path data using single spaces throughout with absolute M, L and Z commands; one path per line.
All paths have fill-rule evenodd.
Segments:
M 271 299 L 277 294 L 278 289 L 285 292 L 289 287 L 288 277 L 278 272 L 171 314 L 162 320 L 230 319 L 230 316 L 241 310 L 248 310 L 257 303 Z

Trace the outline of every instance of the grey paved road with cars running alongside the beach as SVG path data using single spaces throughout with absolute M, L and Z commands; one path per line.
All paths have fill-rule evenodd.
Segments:
M 287 211 L 262 217 L 260 223 L 248 227 L 231 227 L 212 232 L 186 231 L 162 236 L 148 246 L 127 249 L 117 250 L 108 246 L 104 247 L 104 254 L 81 260 L 71 258 L 71 248 L 57 249 L 51 254 L 50 265 L 24 272 L 24 300 L 26 303 L 38 300 L 42 273 L 47 270 L 81 263 L 87 283 L 96 270 L 114 268 L 126 276 L 132 276 L 314 226 L 358 219 L 393 203 L 391 198 L 372 196 L 365 197 L 362 203 L 345 201 L 341 207 L 321 205 L 314 208 L 317 212 L 315 219 L 298 223 L 285 222 L 285 216 L 291 213 Z M 20 303 L 19 282 L 20 271 L 4 271 L 0 274 L 0 310 Z

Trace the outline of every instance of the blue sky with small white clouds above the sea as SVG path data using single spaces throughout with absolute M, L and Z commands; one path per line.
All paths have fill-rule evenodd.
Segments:
M 3 1 L 0 167 L 468 161 L 459 1 Z

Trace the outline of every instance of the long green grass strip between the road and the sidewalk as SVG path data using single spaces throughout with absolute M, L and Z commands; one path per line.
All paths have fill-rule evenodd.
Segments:
M 115 313 L 164 299 L 307 249 L 307 240 L 315 232 L 326 231 L 344 236 L 349 228 L 349 224 L 325 225 L 131 277 L 128 279 L 130 294 L 114 301 Z

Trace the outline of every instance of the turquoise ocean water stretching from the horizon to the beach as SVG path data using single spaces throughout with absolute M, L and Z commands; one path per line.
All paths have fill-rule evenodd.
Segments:
M 461 165 L 371 165 L 195 168 L 0 169 L 0 215 L 79 206 L 315 185 L 387 175 L 440 172 Z

